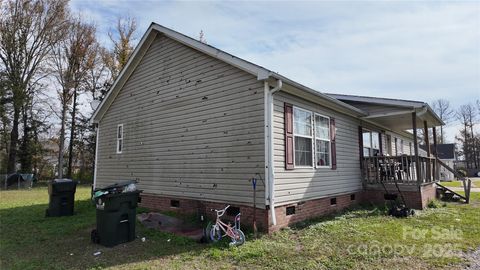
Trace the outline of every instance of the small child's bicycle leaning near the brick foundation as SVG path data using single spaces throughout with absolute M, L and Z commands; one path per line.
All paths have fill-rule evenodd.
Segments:
M 220 217 L 225 214 L 225 211 L 227 211 L 229 207 L 230 205 L 227 205 L 227 207 L 222 210 L 212 209 L 212 211 L 217 213 L 217 219 L 210 230 L 210 239 L 212 239 L 213 242 L 217 242 L 222 239 L 222 237 L 229 236 L 232 239 L 230 245 L 240 246 L 245 243 L 245 234 L 240 230 L 240 213 L 235 216 L 235 225 L 233 227 L 230 223 L 226 224 L 220 220 Z

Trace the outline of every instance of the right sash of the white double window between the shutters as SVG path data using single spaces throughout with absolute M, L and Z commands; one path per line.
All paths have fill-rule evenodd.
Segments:
M 315 114 L 315 164 L 330 166 L 330 119 Z

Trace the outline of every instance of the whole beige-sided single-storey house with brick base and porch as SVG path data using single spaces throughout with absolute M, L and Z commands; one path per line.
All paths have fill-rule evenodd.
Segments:
M 95 187 L 135 179 L 144 207 L 231 204 L 251 222 L 257 178 L 267 231 L 381 202 L 383 180 L 393 190 L 397 179 L 407 203 L 424 207 L 435 196 L 434 159 L 407 130 L 443 125 L 424 102 L 324 94 L 157 24 L 92 122 Z

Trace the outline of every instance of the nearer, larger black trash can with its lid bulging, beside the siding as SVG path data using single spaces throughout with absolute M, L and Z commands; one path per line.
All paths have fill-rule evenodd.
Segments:
M 97 229 L 92 241 L 106 247 L 133 241 L 141 191 L 109 193 L 95 198 Z

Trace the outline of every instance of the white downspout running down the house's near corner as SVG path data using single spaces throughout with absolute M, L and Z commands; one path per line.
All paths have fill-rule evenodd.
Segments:
M 277 225 L 277 218 L 275 216 L 275 171 L 274 171 L 274 151 L 273 151 L 273 94 L 282 89 L 282 80 L 277 80 L 277 86 L 273 89 L 270 89 L 268 82 L 265 81 L 265 95 L 266 95 L 266 114 L 267 114 L 267 125 L 268 125 L 268 151 L 267 151 L 267 160 L 268 160 L 268 197 L 270 201 L 270 215 L 272 217 L 272 224 Z M 267 145 L 266 145 L 267 146 Z

